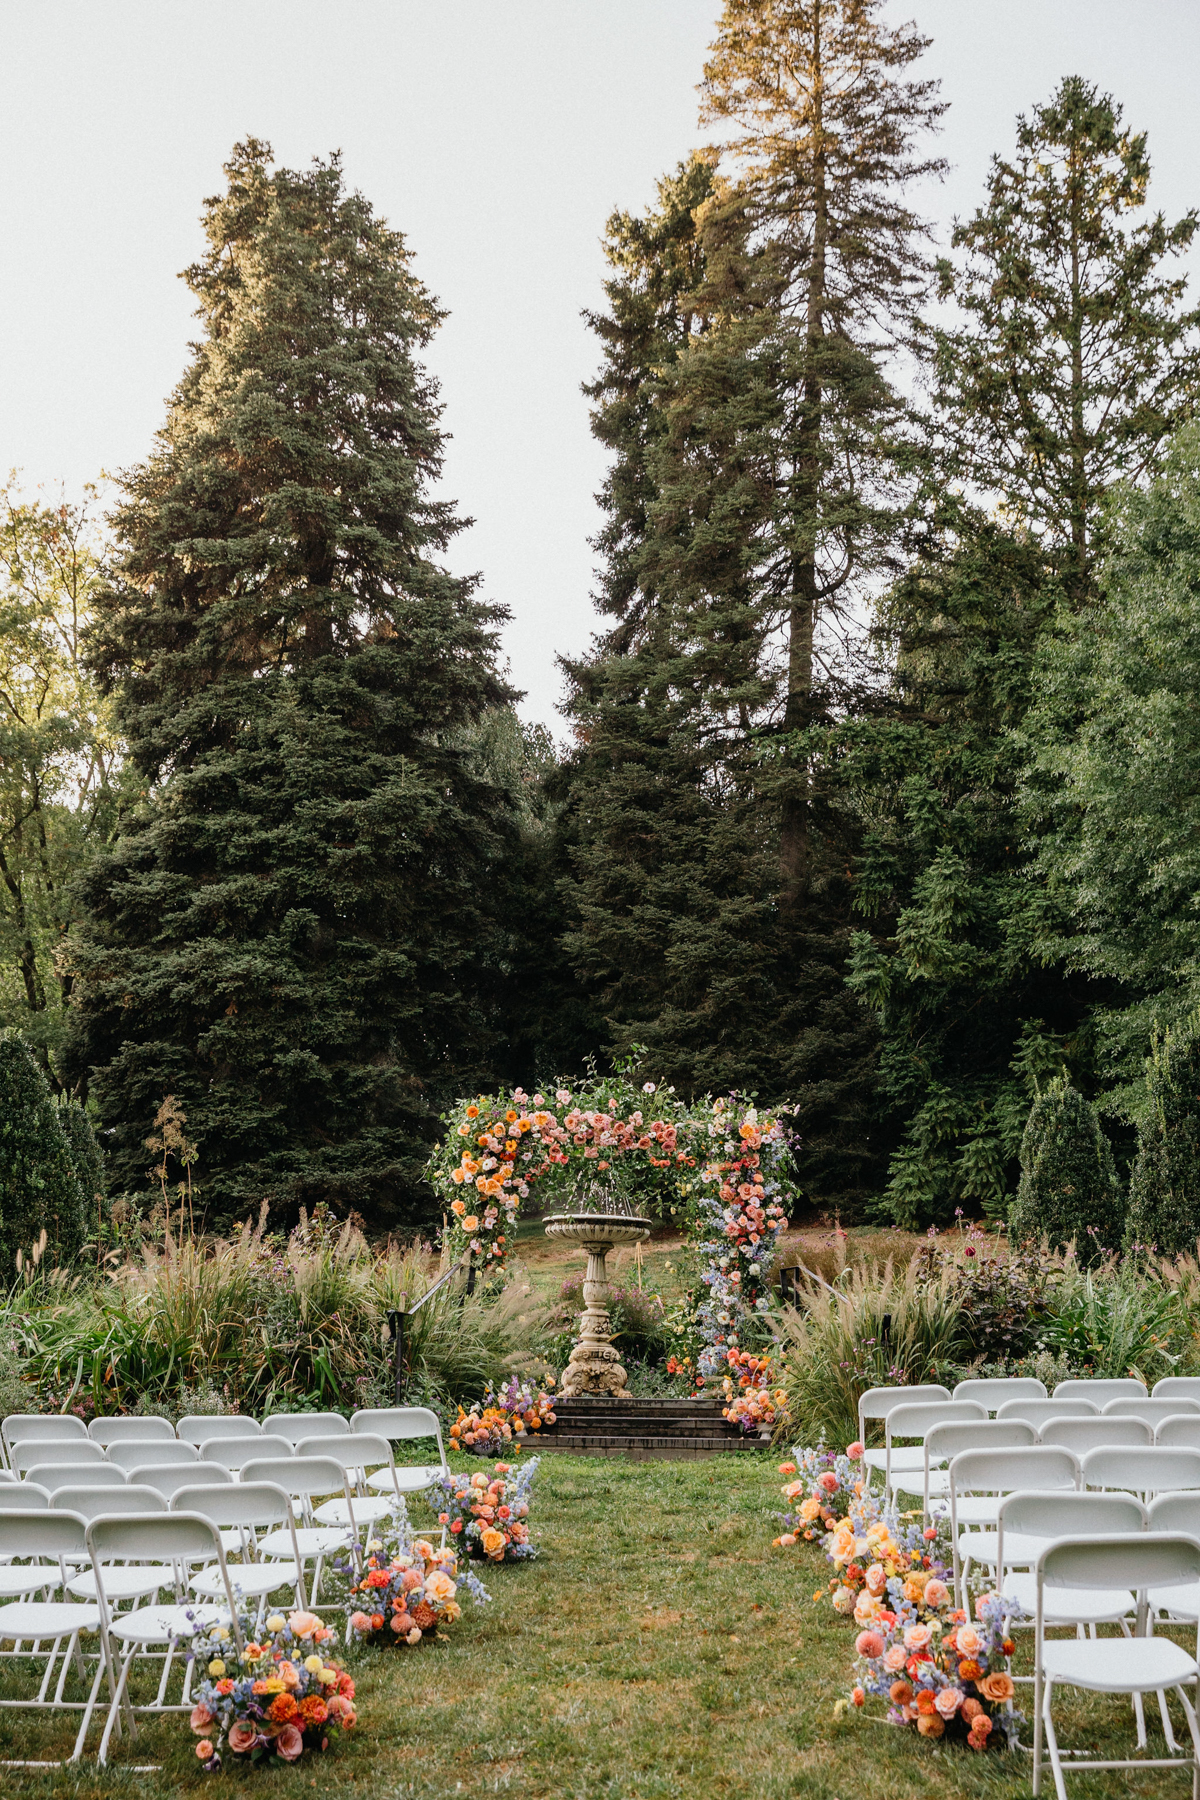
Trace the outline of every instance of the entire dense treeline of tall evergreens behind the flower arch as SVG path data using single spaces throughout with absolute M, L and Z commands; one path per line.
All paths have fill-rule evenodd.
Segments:
M 790 1100 L 844 1215 L 1020 1181 L 1060 1231 L 1096 1168 L 1108 1237 L 1132 1170 L 1186 1237 L 1198 221 L 1070 76 L 936 256 L 925 47 L 878 0 L 725 0 L 718 142 L 608 221 L 565 747 L 443 562 L 403 238 L 336 158 L 237 146 L 108 545 L 7 495 L 2 1022 L 112 1190 L 173 1096 L 212 1219 L 421 1219 L 453 1094 L 642 1046 Z

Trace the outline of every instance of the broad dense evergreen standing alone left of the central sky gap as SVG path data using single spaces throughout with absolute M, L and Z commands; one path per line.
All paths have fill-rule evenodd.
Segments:
M 72 1066 L 144 1183 L 164 1094 L 210 1217 L 412 1217 L 432 1114 L 482 1078 L 504 803 L 470 727 L 502 614 L 417 356 L 441 313 L 338 158 L 236 148 L 187 270 L 201 337 L 124 479 L 94 661 L 142 805 L 85 878 Z

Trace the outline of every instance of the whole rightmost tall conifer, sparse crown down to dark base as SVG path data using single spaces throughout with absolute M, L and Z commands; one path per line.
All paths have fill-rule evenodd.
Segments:
M 1094 603 L 1105 495 L 1155 466 L 1198 373 L 1168 272 L 1196 221 L 1132 218 L 1144 135 L 1069 77 L 1016 139 L 941 265 L 959 315 L 932 335 L 939 493 L 880 610 L 889 707 L 851 754 L 873 927 L 851 979 L 880 1019 L 882 1105 L 901 1138 L 887 1204 L 903 1222 L 955 1202 L 1002 1213 L 1038 1076 L 1067 1060 L 1096 1085 L 1094 1008 L 1114 994 L 1065 972 L 1070 925 L 1031 875 L 1024 722 L 1047 630 Z

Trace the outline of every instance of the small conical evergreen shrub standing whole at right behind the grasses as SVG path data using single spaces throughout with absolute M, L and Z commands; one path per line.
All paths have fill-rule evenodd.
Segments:
M 1013 1238 L 1074 1242 L 1081 1262 L 1121 1247 L 1124 1195 L 1096 1107 L 1058 1076 L 1036 1096 L 1020 1141 Z

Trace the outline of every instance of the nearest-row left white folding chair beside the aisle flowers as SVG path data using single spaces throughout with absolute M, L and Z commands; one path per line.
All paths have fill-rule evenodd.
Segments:
M 92 1570 L 101 1615 L 101 1642 L 104 1660 L 112 1678 L 112 1701 L 101 1737 L 99 1760 L 108 1762 L 108 1744 L 113 1732 L 124 1728 L 133 1735 L 135 1717 L 140 1712 L 189 1712 L 191 1681 L 194 1663 L 187 1660 L 191 1640 L 221 1624 L 228 1629 L 237 1652 L 241 1652 L 241 1627 L 234 1589 L 225 1571 L 225 1552 L 216 1525 L 201 1519 L 196 1512 L 144 1512 L 130 1517 L 92 1519 L 86 1530 Z M 113 1564 L 131 1561 L 153 1561 L 180 1570 L 200 1562 L 216 1562 L 225 1573 L 221 1597 L 216 1602 L 196 1597 L 189 1604 L 162 1604 L 133 1607 L 119 1613 L 108 1597 L 108 1580 Z M 180 1656 L 184 1665 L 182 1692 L 178 1701 L 169 1701 L 171 1670 Z M 117 1660 L 121 1667 L 117 1669 Z M 162 1661 L 162 1674 L 153 1701 L 133 1703 L 130 1699 L 130 1672 L 137 1661 Z

